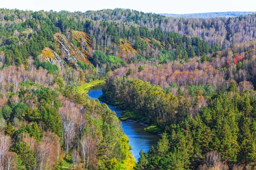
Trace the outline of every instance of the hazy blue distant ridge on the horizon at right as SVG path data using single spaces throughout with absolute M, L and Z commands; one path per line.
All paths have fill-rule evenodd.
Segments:
M 210 17 L 239 17 L 247 14 L 255 14 L 256 12 L 207 12 L 195 14 L 160 14 L 166 17 L 185 17 L 185 18 L 210 18 Z

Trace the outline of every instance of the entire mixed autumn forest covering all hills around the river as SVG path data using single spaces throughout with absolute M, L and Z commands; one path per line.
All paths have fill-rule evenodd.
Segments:
M 255 24 L 0 9 L 0 170 L 256 168 Z M 137 164 L 116 114 L 79 91 L 97 79 L 121 119 L 162 134 Z

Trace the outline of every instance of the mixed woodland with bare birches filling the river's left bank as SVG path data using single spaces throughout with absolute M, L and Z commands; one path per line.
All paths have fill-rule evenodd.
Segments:
M 0 71 L 1 169 L 133 167 L 116 114 L 68 85 L 67 74 L 35 65 Z

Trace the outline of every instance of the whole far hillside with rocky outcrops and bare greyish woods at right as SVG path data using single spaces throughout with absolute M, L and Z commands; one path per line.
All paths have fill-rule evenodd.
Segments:
M 186 57 L 187 53 L 188 57 L 194 57 L 193 51 L 196 55 L 212 53 L 233 43 L 253 40 L 256 35 L 254 14 L 229 19 L 174 19 L 122 9 L 86 13 L 1 11 L 1 44 L 7 56 L 6 65 L 21 64 L 27 56 L 36 57 L 43 49 L 47 51 L 47 47 L 56 52 L 58 60 L 69 56 L 66 62 L 79 60 L 87 64 L 87 57 L 95 49 L 128 62 L 141 60 L 140 55 L 157 59 L 163 54 L 172 59 Z M 65 36 L 61 40 L 56 34 L 59 31 Z M 197 39 L 189 43 L 183 35 L 203 38 L 209 45 Z

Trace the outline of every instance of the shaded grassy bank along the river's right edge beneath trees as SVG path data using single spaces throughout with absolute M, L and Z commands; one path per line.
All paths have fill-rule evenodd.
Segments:
M 121 108 L 124 112 L 122 113 L 122 116 L 119 117 L 121 121 L 134 121 L 134 122 L 139 122 L 142 126 L 144 126 L 144 130 L 147 131 L 148 133 L 151 134 L 157 134 L 160 135 L 163 133 L 163 129 L 161 129 L 157 125 L 148 125 L 148 122 L 146 121 L 147 119 L 143 116 L 138 116 L 136 112 L 132 110 L 132 108 L 127 108 L 123 106 L 120 102 L 118 101 L 109 101 L 104 98 L 104 96 L 100 96 L 99 100 L 105 103 L 108 103 L 110 105 L 115 106 L 116 108 Z

